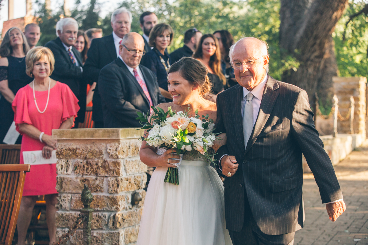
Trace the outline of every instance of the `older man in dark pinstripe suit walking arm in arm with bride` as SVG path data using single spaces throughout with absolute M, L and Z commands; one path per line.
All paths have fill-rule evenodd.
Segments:
M 303 227 L 302 154 L 335 221 L 342 192 L 313 121 L 307 93 L 267 74 L 266 43 L 240 39 L 230 49 L 238 85 L 217 96 L 216 131 L 224 175 L 226 228 L 234 245 L 290 244 Z

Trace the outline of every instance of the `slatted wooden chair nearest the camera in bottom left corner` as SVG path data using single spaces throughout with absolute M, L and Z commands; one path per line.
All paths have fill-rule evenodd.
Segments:
M 21 204 L 26 172 L 31 165 L 0 165 L 0 245 L 11 245 Z

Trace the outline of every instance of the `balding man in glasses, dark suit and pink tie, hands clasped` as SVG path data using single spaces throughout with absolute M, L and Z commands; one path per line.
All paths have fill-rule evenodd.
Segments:
M 151 106 L 165 102 L 156 76 L 139 65 L 143 54 L 143 37 L 130 32 L 121 41 L 120 56 L 101 69 L 98 91 L 105 127 L 141 127 L 137 111 L 150 114 Z

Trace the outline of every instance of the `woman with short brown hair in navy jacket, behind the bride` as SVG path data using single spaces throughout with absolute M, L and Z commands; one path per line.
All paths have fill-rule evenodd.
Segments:
M 149 33 L 149 46 L 151 51 L 142 57 L 141 64 L 150 69 L 157 76 L 160 92 L 166 102 L 173 100 L 167 91 L 167 71 L 170 68 L 170 55 L 166 48 L 173 42 L 173 29 L 167 24 L 158 24 Z

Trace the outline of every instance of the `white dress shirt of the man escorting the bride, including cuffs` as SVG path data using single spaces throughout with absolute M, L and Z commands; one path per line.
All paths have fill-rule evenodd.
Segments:
M 263 91 L 265 90 L 265 85 L 266 85 L 266 82 L 267 82 L 267 78 L 268 78 L 268 76 L 266 75 L 265 78 L 262 80 L 262 82 L 259 83 L 252 91 L 249 91 L 245 87 L 243 87 L 243 100 L 241 101 L 241 116 L 243 118 L 245 102 L 247 102 L 246 96 L 247 96 L 248 93 L 251 93 L 251 94 L 253 94 L 253 98 L 252 98 L 253 126 L 255 125 L 255 122 L 257 120 L 257 116 L 258 116 L 258 112 L 259 112 L 259 106 L 261 105 L 262 95 L 263 95 Z M 224 156 L 228 156 L 228 155 L 221 156 L 220 161 L 219 161 L 220 170 L 222 170 L 221 159 Z M 327 203 L 334 203 L 334 202 L 339 202 L 339 201 L 342 201 L 342 200 L 343 199 L 339 199 L 339 200 L 336 200 L 336 201 L 333 201 L 333 202 L 327 202 Z

